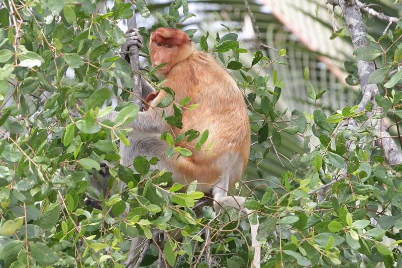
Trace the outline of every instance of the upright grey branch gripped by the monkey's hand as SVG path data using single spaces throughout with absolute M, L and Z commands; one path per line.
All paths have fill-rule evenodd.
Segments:
M 131 8 L 133 9 L 133 16 L 127 20 L 127 27 L 128 28 L 137 28 L 137 21 L 135 15 L 135 5 L 132 2 Z M 139 49 L 137 46 L 130 46 L 129 57 L 131 67 L 134 70 L 140 69 L 140 58 L 139 58 Z M 141 87 L 141 77 L 138 73 L 134 73 L 134 88 L 133 88 L 134 96 L 141 96 L 142 97 L 142 87 Z M 134 97 L 134 103 L 141 107 L 141 100 L 138 97 Z

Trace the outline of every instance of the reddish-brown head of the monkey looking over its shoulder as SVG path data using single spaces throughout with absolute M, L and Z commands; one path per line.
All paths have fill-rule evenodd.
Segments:
M 166 75 L 174 65 L 194 52 L 188 35 L 175 28 L 156 29 L 151 35 L 149 47 L 153 66 L 168 63 L 157 71 L 161 75 Z

